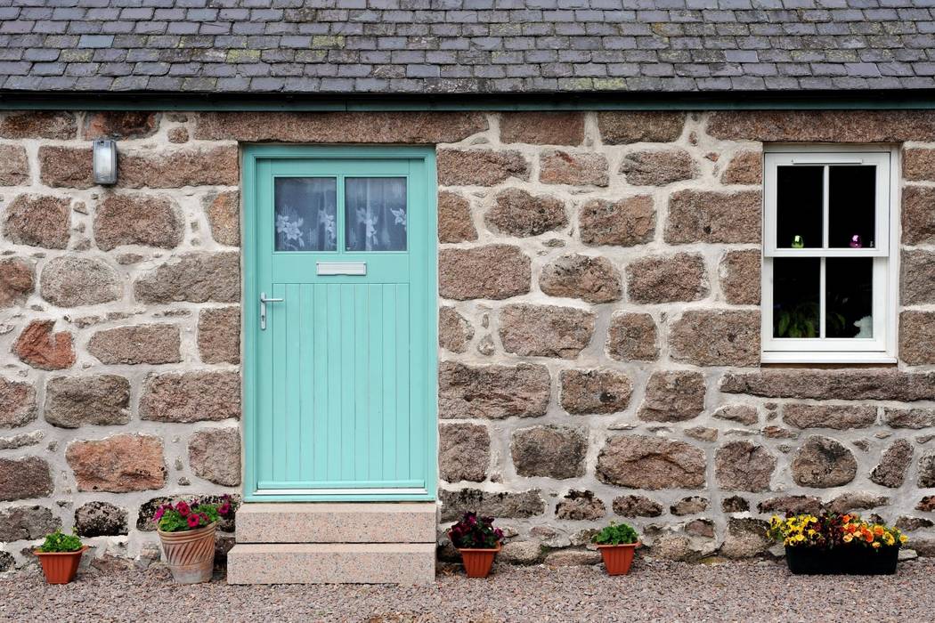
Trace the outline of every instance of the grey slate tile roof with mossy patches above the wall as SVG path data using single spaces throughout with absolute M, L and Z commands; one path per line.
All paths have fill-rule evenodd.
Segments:
M 935 0 L 0 0 L 2 92 L 935 87 Z

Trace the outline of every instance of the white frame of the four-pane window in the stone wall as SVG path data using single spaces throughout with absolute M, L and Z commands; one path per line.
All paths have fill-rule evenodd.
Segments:
M 761 361 L 764 363 L 893 363 L 896 362 L 899 249 L 899 151 L 881 146 L 770 146 L 764 154 Z M 823 209 L 825 248 L 776 247 L 777 167 L 874 164 L 876 240 L 874 248 L 827 248 L 827 171 Z M 873 258 L 872 338 L 777 338 L 772 336 L 772 260 L 788 257 Z M 820 276 L 824 316 L 825 262 Z

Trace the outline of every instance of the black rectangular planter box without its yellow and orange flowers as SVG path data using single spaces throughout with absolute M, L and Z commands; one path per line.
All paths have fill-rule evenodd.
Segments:
M 899 547 L 872 549 L 843 545 L 830 549 L 785 546 L 785 562 L 796 575 L 892 575 L 896 573 Z

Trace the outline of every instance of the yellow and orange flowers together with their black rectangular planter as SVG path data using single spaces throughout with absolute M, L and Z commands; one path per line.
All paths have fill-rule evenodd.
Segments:
M 767 534 L 785 546 L 786 564 L 795 574 L 896 573 L 899 547 L 906 542 L 896 528 L 836 513 L 772 517 Z

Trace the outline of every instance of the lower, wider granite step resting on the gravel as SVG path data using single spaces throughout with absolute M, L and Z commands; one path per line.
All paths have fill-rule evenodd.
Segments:
M 228 584 L 411 585 L 434 581 L 434 543 L 238 543 L 227 554 Z

